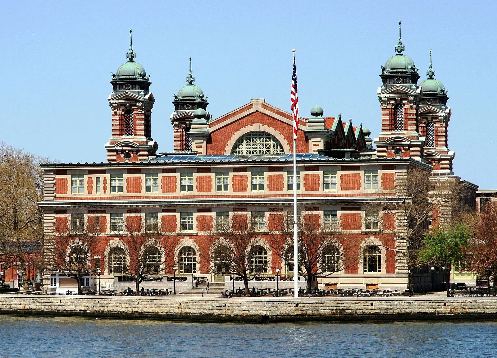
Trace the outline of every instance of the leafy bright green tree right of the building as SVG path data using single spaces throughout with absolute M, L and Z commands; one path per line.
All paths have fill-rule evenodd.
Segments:
M 465 224 L 442 226 L 424 236 L 418 252 L 418 264 L 431 264 L 442 269 L 447 282 L 447 292 L 450 282 L 450 266 L 464 260 L 472 236 L 470 228 Z

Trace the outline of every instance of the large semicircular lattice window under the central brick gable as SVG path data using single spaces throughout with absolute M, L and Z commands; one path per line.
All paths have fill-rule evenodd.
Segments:
M 273 154 L 284 154 L 281 143 L 273 135 L 255 131 L 240 137 L 231 154 L 238 157 L 269 156 Z

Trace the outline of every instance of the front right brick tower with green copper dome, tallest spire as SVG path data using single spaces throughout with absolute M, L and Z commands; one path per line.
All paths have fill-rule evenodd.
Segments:
M 421 89 L 417 87 L 419 75 L 414 61 L 403 52 L 399 21 L 397 54 L 381 67 L 382 86 L 378 88 L 381 104 L 381 132 L 375 138 L 378 157 L 412 157 L 421 159 L 422 144 L 417 131 L 417 110 Z

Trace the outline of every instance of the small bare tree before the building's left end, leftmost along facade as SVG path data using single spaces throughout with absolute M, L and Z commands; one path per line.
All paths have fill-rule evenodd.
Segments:
M 93 255 L 100 255 L 100 232 L 94 225 L 84 221 L 60 223 L 56 231 L 54 258 L 46 263 L 47 268 L 74 278 L 78 285 L 78 294 L 81 295 L 83 277 L 96 271 L 96 268 L 91 266 L 91 258 Z

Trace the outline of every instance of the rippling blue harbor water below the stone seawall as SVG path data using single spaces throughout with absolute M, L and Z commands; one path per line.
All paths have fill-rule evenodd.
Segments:
M 0 316 L 3 358 L 497 357 L 497 322 L 187 323 Z

